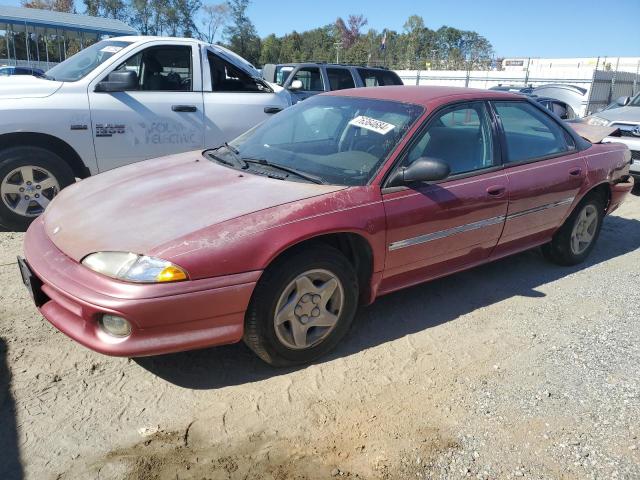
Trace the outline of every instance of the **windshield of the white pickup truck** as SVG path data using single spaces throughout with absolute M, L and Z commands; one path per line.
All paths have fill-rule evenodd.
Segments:
M 59 82 L 75 82 L 111 58 L 131 42 L 103 40 L 67 58 L 46 73 L 46 78 Z

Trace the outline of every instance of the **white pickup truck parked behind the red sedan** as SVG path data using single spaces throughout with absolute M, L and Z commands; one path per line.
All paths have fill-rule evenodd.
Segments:
M 249 62 L 193 39 L 112 38 L 44 78 L 2 78 L 0 224 L 25 227 L 76 178 L 222 145 L 289 105 Z

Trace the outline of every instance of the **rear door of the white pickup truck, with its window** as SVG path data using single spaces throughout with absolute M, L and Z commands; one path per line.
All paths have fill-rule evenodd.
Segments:
M 231 52 L 203 48 L 205 147 L 216 147 L 290 105 L 285 91 L 260 78 L 257 70 Z

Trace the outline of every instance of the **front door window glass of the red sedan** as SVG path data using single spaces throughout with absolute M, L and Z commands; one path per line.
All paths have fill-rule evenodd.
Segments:
M 420 157 L 445 162 L 451 175 L 492 167 L 493 135 L 485 104 L 461 104 L 437 114 L 409 150 L 403 165 Z

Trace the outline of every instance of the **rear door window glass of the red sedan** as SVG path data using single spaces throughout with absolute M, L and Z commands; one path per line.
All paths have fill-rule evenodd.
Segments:
M 507 141 L 507 162 L 522 162 L 569 150 L 568 134 L 527 102 L 495 102 Z

